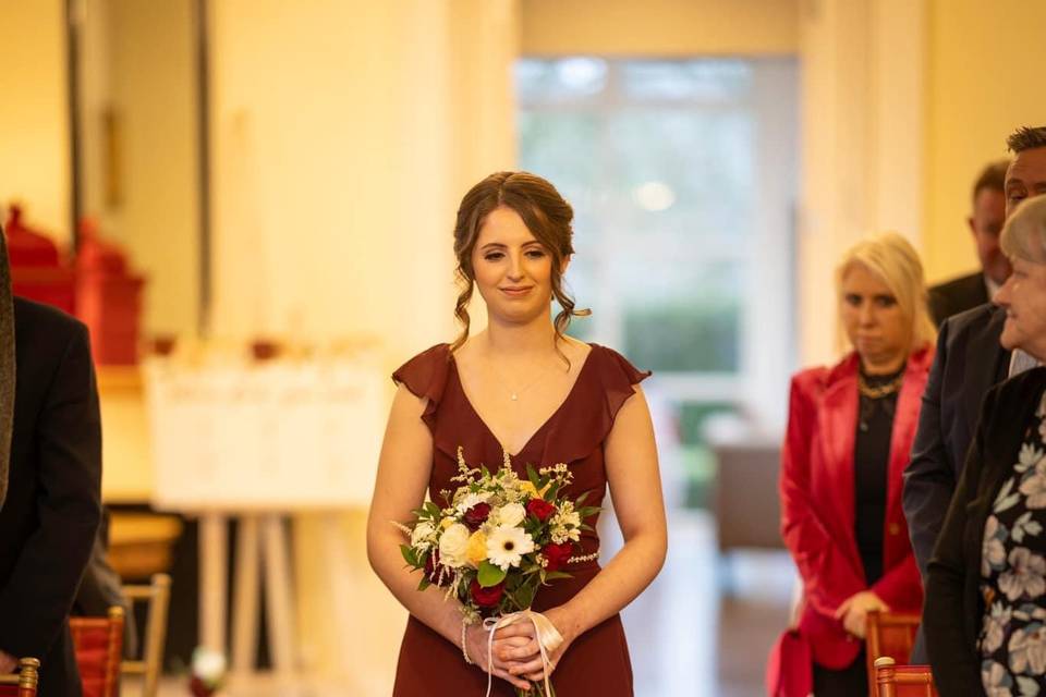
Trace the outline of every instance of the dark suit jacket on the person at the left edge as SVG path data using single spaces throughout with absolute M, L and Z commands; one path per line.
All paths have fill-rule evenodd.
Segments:
M 36 657 L 41 696 L 81 694 L 68 615 L 100 519 L 101 424 L 87 329 L 14 301 L 16 384 L 0 510 L 0 649 Z

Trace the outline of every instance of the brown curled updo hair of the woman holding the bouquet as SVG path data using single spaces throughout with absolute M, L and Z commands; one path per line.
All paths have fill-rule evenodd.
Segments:
M 556 316 L 556 337 L 562 339 L 572 317 L 591 315 L 587 309 L 574 309 L 574 299 L 563 290 L 563 266 L 574 253 L 574 231 L 571 221 L 574 210 L 548 181 L 528 172 L 495 172 L 469 189 L 458 208 L 454 224 L 454 256 L 458 258 L 458 284 L 461 292 L 454 307 L 454 316 L 462 326 L 461 333 L 451 345 L 458 351 L 469 339 L 469 301 L 475 288 L 472 268 L 472 252 L 475 249 L 479 229 L 495 208 L 511 208 L 531 234 L 545 246 L 552 257 L 552 296 L 563 308 Z

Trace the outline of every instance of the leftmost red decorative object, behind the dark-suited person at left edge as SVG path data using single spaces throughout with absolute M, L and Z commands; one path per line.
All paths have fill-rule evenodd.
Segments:
M 73 269 L 59 254 L 58 245 L 38 230 L 28 228 L 22 207 L 12 205 L 3 227 L 11 259 L 11 290 L 31 301 L 53 305 L 69 314 L 76 309 Z

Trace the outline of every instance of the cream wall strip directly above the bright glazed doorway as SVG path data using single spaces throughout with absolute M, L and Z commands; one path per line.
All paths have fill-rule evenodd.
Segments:
M 523 0 L 526 56 L 765 56 L 799 48 L 799 0 Z

